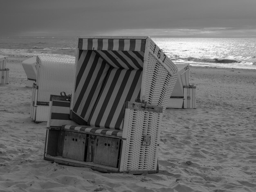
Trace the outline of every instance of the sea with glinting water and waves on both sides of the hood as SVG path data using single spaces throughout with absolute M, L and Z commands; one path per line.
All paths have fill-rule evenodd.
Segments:
M 256 38 L 151 37 L 174 63 L 256 69 Z M 0 37 L 0 55 L 76 56 L 76 37 Z

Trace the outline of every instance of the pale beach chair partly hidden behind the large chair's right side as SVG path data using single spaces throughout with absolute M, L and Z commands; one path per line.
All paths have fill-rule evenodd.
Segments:
M 176 64 L 178 78 L 166 108 L 196 108 L 195 86 L 189 84 L 189 64 Z

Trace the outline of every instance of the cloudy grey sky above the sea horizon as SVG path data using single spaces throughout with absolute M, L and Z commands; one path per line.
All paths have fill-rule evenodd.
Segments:
M 256 0 L 0 0 L 0 36 L 256 37 Z

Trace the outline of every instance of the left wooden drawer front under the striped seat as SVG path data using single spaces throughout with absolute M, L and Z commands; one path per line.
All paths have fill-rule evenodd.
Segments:
M 88 137 L 86 134 L 65 132 L 63 157 L 85 161 Z

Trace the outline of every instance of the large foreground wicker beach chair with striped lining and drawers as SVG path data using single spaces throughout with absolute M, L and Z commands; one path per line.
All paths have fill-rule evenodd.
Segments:
M 44 159 L 102 172 L 156 173 L 177 67 L 149 37 L 79 37 L 76 52 L 72 95 L 51 98 Z

